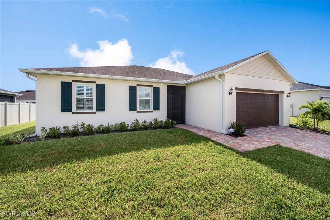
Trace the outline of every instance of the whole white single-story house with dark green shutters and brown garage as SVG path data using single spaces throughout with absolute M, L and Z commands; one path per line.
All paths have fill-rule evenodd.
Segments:
M 19 70 L 37 80 L 37 131 L 166 117 L 223 133 L 235 120 L 288 126 L 286 96 L 297 83 L 269 51 L 196 76 L 144 66 Z

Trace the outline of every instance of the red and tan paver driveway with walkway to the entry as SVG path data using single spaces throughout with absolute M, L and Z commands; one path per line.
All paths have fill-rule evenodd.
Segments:
M 209 137 L 241 152 L 281 144 L 330 159 L 330 136 L 326 134 L 283 126 L 270 126 L 247 129 L 245 132 L 247 136 L 235 138 L 191 125 L 175 125 L 175 127 L 184 128 L 196 134 Z

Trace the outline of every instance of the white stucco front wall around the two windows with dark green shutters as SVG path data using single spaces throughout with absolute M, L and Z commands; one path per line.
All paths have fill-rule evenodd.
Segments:
M 96 81 L 97 84 L 105 84 L 105 111 L 96 114 L 72 114 L 72 112 L 61 112 L 61 82 L 72 82 L 72 80 Z M 152 85 L 160 88 L 160 110 L 152 113 L 137 113 L 129 111 L 129 86 L 137 84 Z M 136 81 L 95 79 L 83 77 L 38 75 L 37 82 L 37 131 L 41 127 L 63 127 L 81 122 L 98 126 L 100 124 L 115 124 L 125 121 L 131 124 L 137 118 L 139 121 L 151 121 L 154 118 L 165 120 L 167 116 L 167 85 L 160 83 L 147 83 Z M 73 92 L 75 84 L 72 83 Z M 95 92 L 95 90 L 94 90 Z M 74 103 L 74 97 L 73 97 Z M 95 102 L 94 102 L 94 107 Z M 152 104 L 151 104 L 152 108 Z M 95 108 L 96 109 L 96 108 Z M 72 110 L 75 110 L 73 104 Z

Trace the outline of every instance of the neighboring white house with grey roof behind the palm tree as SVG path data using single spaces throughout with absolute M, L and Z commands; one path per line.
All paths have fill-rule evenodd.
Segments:
M 322 98 L 330 102 L 330 86 L 318 86 L 314 84 L 298 82 L 298 84 L 292 85 L 290 88 L 290 114 L 291 116 L 297 116 L 301 112 L 305 112 L 308 109 L 302 108 L 299 110 L 301 104 L 307 103 L 307 101 L 316 101 L 316 99 Z

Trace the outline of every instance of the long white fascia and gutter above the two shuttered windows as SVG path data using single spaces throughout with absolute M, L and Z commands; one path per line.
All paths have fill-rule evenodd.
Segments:
M 124 77 L 124 76 L 106 76 L 106 75 L 59 72 L 59 71 L 49 71 L 49 70 L 19 69 L 19 71 L 25 74 L 30 74 L 34 77 L 37 77 L 35 76 L 37 74 L 44 74 L 44 75 L 75 76 L 75 77 L 102 78 L 102 79 L 126 80 L 126 81 L 167 83 L 167 84 L 184 84 L 184 82 L 171 81 L 171 80 L 143 79 L 143 78 Z

